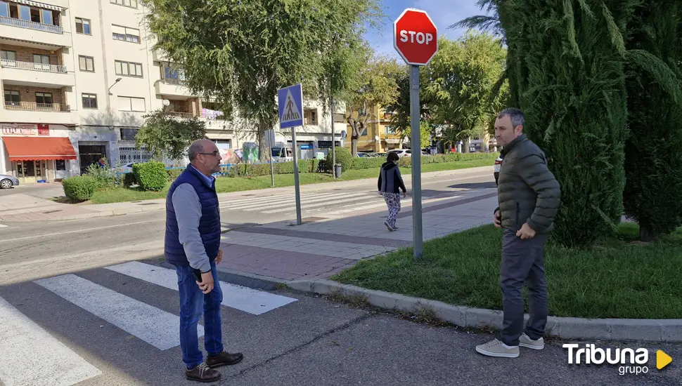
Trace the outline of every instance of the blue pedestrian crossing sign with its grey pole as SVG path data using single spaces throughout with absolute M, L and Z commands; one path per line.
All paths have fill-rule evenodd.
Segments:
M 294 189 L 296 192 L 296 224 L 301 225 L 301 193 L 298 182 L 298 152 L 296 126 L 303 126 L 303 88 L 295 84 L 277 91 L 279 127 L 291 128 L 291 142 L 294 155 Z

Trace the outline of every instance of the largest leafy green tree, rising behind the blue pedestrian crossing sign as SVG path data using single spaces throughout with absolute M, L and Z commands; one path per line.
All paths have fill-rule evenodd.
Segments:
M 321 100 L 340 92 L 354 74 L 327 73 L 330 63 L 354 52 L 366 21 L 382 14 L 376 0 L 142 1 L 155 48 L 184 69 L 193 93 L 255 122 L 262 157 L 277 89 L 302 83 L 305 98 Z

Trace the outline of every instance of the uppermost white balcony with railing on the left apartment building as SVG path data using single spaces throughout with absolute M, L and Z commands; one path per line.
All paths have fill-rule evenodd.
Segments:
M 21 28 L 21 29 L 18 29 Z M 70 47 L 70 36 L 59 25 L 0 16 L 0 36 L 47 46 Z

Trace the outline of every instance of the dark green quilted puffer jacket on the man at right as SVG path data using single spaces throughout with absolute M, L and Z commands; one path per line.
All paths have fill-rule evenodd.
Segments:
M 559 182 L 547 168 L 542 150 L 520 135 L 502 150 L 497 186 L 502 227 L 517 231 L 525 222 L 538 234 L 549 234 L 559 210 Z

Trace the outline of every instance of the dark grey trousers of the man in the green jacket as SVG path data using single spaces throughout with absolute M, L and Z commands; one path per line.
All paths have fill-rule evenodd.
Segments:
M 504 320 L 500 340 L 508 346 L 519 345 L 525 332 L 536 340 L 545 333 L 547 324 L 547 281 L 545 279 L 544 247 L 547 237 L 536 234 L 522 240 L 516 232 L 504 229 L 500 288 L 503 298 Z M 528 287 L 529 319 L 523 328 L 523 284 Z

